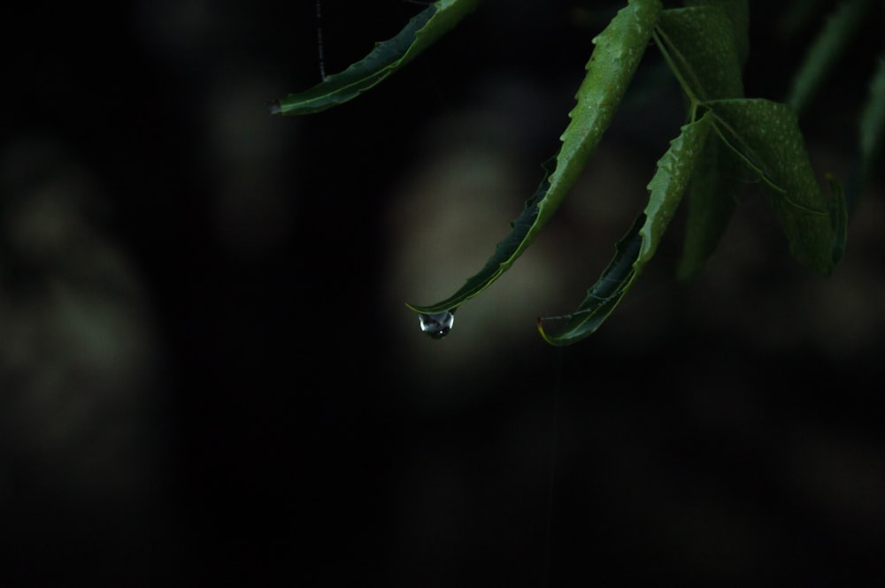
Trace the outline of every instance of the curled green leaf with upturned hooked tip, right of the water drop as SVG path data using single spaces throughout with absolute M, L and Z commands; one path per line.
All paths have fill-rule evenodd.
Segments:
M 581 305 L 565 317 L 566 325 L 556 333 L 549 332 L 544 324 L 562 317 L 538 319 L 538 331 L 544 340 L 558 347 L 571 345 L 596 332 L 612 314 L 645 264 L 654 256 L 689 186 L 710 128 L 710 116 L 707 115 L 683 126 L 681 134 L 670 142 L 670 149 L 658 160 L 658 171 L 649 183 L 649 202 L 643 214 L 618 242 L 612 262 L 590 286 Z

